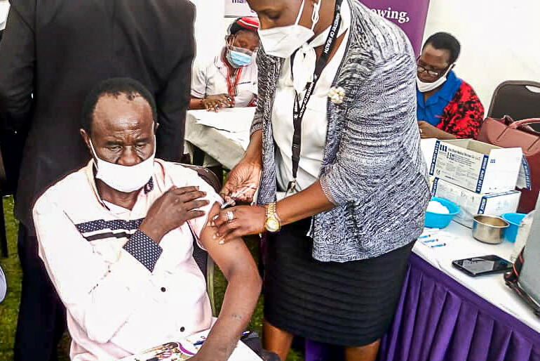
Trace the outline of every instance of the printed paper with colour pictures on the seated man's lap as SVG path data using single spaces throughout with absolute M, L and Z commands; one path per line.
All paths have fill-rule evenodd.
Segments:
M 193 334 L 186 339 L 180 341 L 171 341 L 163 343 L 163 345 L 150 348 L 137 355 L 124 357 L 119 361 L 182 361 L 196 355 L 197 351 L 202 347 L 201 341 L 206 339 L 210 330 Z M 238 346 L 234 349 L 229 361 L 261 361 L 245 343 L 238 341 Z

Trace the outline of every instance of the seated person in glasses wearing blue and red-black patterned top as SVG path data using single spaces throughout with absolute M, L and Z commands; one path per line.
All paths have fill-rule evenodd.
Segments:
M 431 35 L 417 60 L 417 118 L 421 138 L 477 138 L 484 107 L 452 70 L 461 46 L 451 34 Z

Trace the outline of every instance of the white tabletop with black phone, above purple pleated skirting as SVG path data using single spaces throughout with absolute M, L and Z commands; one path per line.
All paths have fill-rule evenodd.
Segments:
M 501 308 L 504 312 L 513 315 L 536 330 L 536 332 L 540 332 L 540 319 L 532 313 L 532 310 L 514 291 L 504 284 L 504 279 L 500 273 L 470 277 L 452 267 L 452 261 L 454 260 L 489 254 L 495 254 L 510 261 L 513 244 L 506 241 L 500 244 L 478 242 L 472 237 L 471 229 L 454 222 L 450 223 L 450 226 L 443 231 L 449 237 L 445 237 L 445 233 L 436 237 L 444 239 L 445 247 L 431 248 L 426 244 L 417 242 L 414 245 L 414 253 L 433 265 L 433 267 L 452 277 L 459 284 L 478 294 L 478 296 Z

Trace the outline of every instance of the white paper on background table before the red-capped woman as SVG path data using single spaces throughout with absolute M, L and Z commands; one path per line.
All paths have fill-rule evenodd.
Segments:
M 192 111 L 196 124 L 211 126 L 231 133 L 245 133 L 250 131 L 255 107 L 237 107 L 207 112 L 206 110 Z

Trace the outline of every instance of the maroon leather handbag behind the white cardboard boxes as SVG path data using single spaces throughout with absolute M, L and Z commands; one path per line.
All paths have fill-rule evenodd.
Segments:
M 530 188 L 521 190 L 518 212 L 529 213 L 534 209 L 540 191 L 540 132 L 529 124 L 540 124 L 540 118 L 515 122 L 505 115 L 503 119 L 487 118 L 480 127 L 478 140 L 499 147 L 520 147 L 528 162 Z

